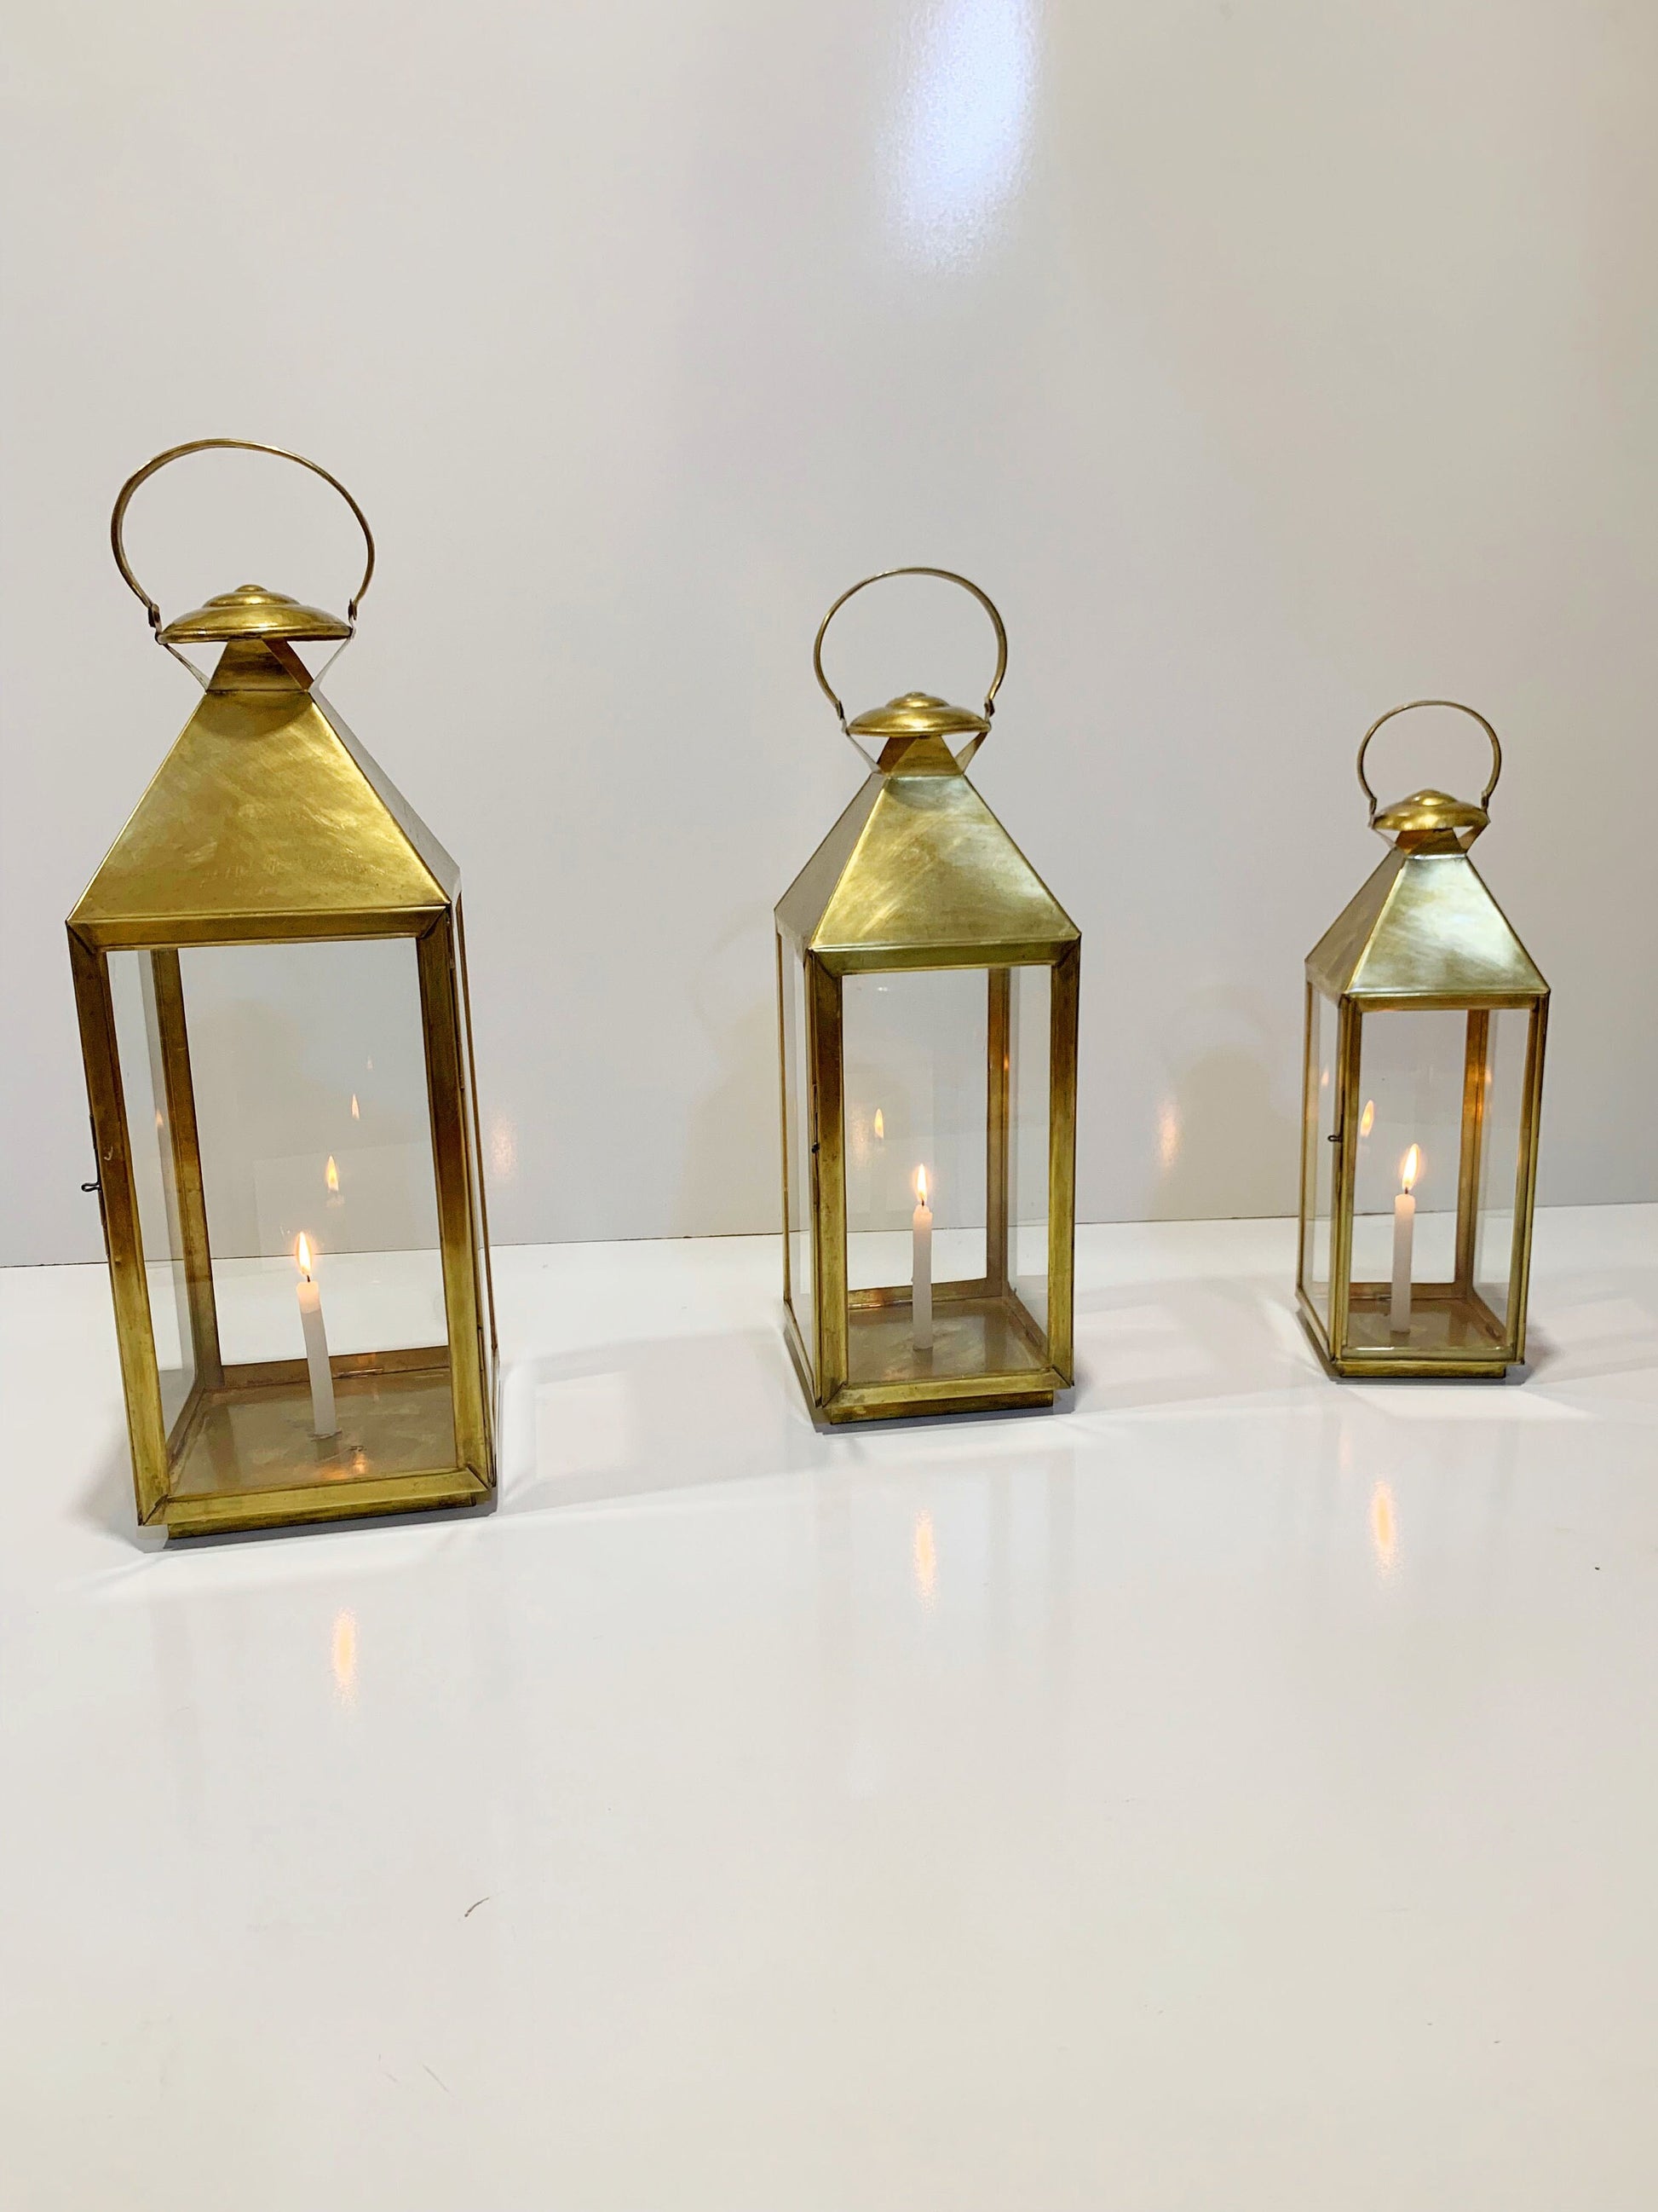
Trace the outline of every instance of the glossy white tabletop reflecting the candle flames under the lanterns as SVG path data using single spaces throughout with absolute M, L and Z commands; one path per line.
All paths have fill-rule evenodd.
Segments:
M 1658 2192 L 1658 1210 L 1525 1385 L 1083 1230 L 1074 1409 L 818 1436 L 769 1239 L 500 1254 L 489 1520 L 141 1551 L 0 1276 L 18 2208 Z

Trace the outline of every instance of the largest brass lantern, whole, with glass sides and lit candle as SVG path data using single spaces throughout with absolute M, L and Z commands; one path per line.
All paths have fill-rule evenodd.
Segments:
M 137 1513 L 199 1535 L 469 1506 L 495 1482 L 495 1323 L 460 878 L 312 686 L 347 617 L 245 584 L 69 916 Z M 281 453 L 298 460 L 296 453 Z M 195 672 L 195 668 L 192 668 Z

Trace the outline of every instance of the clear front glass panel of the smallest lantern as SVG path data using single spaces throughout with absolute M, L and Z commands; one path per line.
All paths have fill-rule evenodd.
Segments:
M 1362 1020 L 1349 1349 L 1433 1360 L 1501 1347 L 1472 1281 L 1488 1022 L 1463 1009 Z

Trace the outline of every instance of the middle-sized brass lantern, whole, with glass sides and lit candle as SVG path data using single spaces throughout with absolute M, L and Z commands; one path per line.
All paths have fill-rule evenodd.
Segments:
M 1081 938 L 964 770 L 982 712 L 847 721 L 869 781 L 776 909 L 785 1329 L 820 1420 L 1052 1405 L 1072 1380 Z M 867 750 L 871 748 L 871 750 Z M 957 750 L 959 748 L 959 750 Z

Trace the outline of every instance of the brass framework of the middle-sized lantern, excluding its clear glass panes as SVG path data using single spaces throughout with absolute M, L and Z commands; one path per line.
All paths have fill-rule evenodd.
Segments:
M 789 1148 L 783 940 L 800 953 L 807 982 L 805 1073 L 811 1130 L 809 1210 L 816 1265 L 811 1343 L 789 1298 L 785 1237 L 785 1336 L 800 1387 L 820 1420 L 880 1420 L 902 1413 L 1052 1405 L 1072 1374 L 1072 1279 L 1077 1241 L 1077 973 L 1079 931 L 964 774 L 984 734 L 1008 661 L 1008 639 L 990 599 L 946 568 L 893 568 L 964 584 L 997 633 L 997 668 L 984 712 L 928 692 L 904 692 L 847 721 L 822 672 L 825 615 L 814 670 L 842 730 L 880 739 L 880 759 L 776 909 L 778 1060 L 783 1066 L 783 1190 L 789 1219 Z M 880 582 L 869 577 L 867 582 Z M 862 591 L 856 584 L 853 591 Z M 962 754 L 948 737 L 968 737 Z M 858 745 L 864 752 L 862 745 Z M 871 759 L 864 752 L 864 759 Z M 847 1166 L 842 978 L 909 969 L 986 971 L 986 1263 L 982 1283 L 940 1283 L 935 1343 L 911 1343 L 909 1285 L 847 1292 Z M 1012 967 L 1046 967 L 1048 1064 L 1048 1327 L 1008 1287 L 1008 1048 Z

